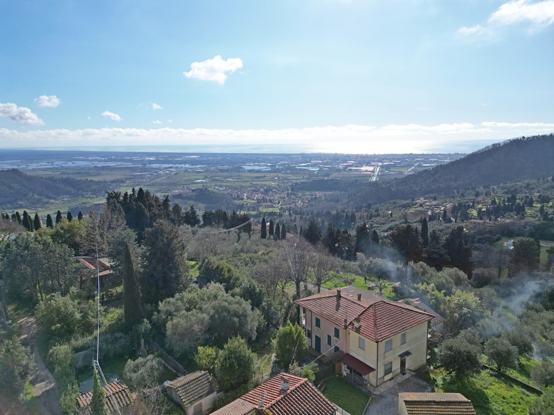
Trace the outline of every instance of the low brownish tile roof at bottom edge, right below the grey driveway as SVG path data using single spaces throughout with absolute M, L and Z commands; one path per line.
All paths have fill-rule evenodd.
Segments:
M 475 415 L 471 400 L 462 394 L 404 392 L 398 394 L 404 401 L 408 415 Z

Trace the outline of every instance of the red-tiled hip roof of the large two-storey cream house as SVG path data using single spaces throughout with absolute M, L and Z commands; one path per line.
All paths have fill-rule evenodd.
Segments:
M 355 295 L 350 296 L 350 292 Z M 373 342 L 380 342 L 434 318 L 431 313 L 388 301 L 355 287 L 335 288 L 297 299 L 296 304 L 325 317 L 337 326 L 343 326 L 346 320 L 350 330 Z

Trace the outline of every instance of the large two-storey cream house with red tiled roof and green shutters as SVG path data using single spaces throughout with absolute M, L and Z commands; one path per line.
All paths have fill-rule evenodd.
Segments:
M 308 345 L 337 353 L 343 376 L 363 387 L 427 363 L 429 321 L 434 315 L 354 286 L 297 299 Z

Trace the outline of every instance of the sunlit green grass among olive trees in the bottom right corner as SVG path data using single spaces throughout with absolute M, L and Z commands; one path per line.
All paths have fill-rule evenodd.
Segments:
M 437 392 L 462 394 L 472 401 L 478 415 L 526 415 L 529 404 L 537 397 L 515 382 L 497 378 L 488 370 L 471 378 L 442 376 L 435 380 Z

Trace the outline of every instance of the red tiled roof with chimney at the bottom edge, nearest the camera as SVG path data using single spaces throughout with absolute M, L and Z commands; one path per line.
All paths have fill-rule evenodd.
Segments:
M 332 415 L 337 407 L 312 383 L 291 374 L 280 374 L 266 380 L 213 415 Z

